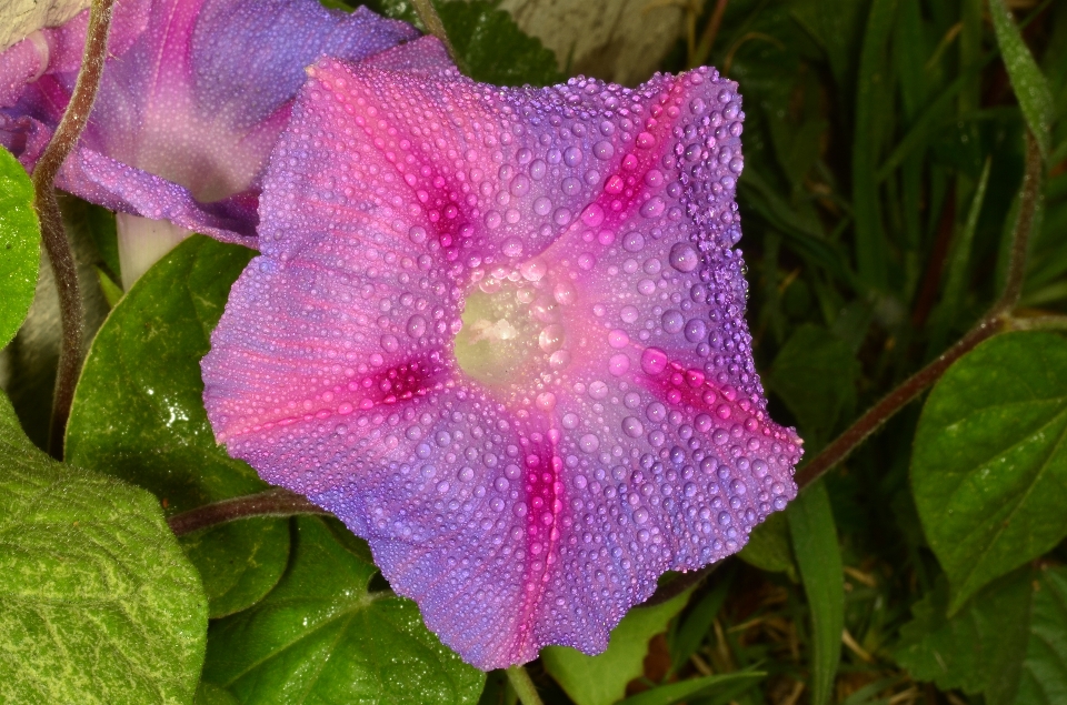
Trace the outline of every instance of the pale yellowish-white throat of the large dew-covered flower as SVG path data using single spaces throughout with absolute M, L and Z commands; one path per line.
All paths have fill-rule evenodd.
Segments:
M 537 275 L 540 272 L 534 271 Z M 570 362 L 562 309 L 572 293 L 555 291 L 547 278 L 479 281 L 467 295 L 456 334 L 456 362 L 487 386 L 521 385 L 531 375 Z

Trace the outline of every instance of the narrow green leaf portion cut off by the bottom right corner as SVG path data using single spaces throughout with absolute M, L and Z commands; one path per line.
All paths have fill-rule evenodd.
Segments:
M 1030 608 L 1017 705 L 1067 703 L 1067 568 L 1046 570 Z

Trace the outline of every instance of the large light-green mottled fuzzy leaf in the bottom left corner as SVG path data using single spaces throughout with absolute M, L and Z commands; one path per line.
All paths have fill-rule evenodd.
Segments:
M 188 703 L 207 622 L 156 498 L 38 451 L 0 394 L 0 702 Z

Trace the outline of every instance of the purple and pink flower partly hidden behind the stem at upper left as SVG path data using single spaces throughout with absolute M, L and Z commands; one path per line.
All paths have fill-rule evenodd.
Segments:
M 70 100 L 88 10 L 0 54 L 0 143 L 32 169 Z M 418 36 L 315 0 L 119 0 L 88 128 L 57 184 L 109 209 L 248 243 L 305 68 Z M 255 244 L 255 241 L 251 241 Z

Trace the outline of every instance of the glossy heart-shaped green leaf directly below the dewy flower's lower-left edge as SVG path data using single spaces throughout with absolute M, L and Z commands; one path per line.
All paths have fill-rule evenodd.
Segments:
M 213 622 L 205 681 L 260 703 L 477 703 L 485 674 L 422 624 L 415 603 L 370 592 L 378 572 L 322 520 L 299 517 L 278 586 Z

